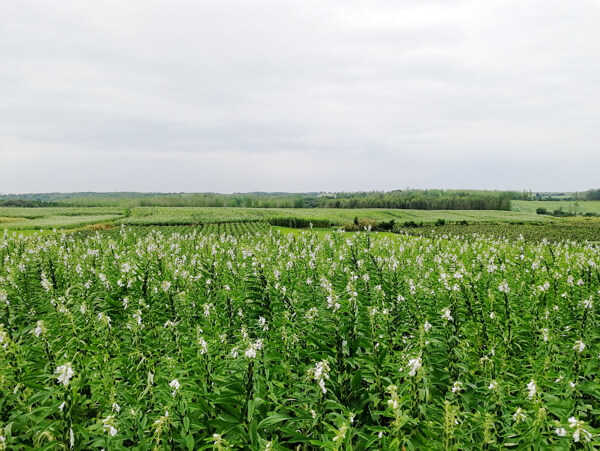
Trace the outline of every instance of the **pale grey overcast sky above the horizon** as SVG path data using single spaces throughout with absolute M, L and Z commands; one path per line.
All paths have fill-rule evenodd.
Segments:
M 598 0 L 4 0 L 0 193 L 600 187 Z

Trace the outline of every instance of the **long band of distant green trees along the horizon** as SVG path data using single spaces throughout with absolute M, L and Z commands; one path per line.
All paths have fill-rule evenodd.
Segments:
M 0 195 L 0 206 L 510 210 L 511 200 L 530 197 L 530 193 L 517 191 L 412 189 L 341 193 L 45 193 Z

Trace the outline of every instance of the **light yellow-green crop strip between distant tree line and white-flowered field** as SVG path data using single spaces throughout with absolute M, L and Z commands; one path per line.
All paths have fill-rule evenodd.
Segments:
M 326 209 L 326 208 L 227 208 L 227 207 L 118 207 L 88 208 L 0 208 L 0 229 L 40 230 L 78 229 L 93 224 L 127 226 L 176 226 L 219 223 L 270 222 L 277 226 L 308 228 L 336 227 L 354 218 L 376 222 L 395 220 L 433 224 L 439 219 L 448 222 L 552 222 L 554 218 L 529 212 L 494 210 L 386 210 L 386 209 Z

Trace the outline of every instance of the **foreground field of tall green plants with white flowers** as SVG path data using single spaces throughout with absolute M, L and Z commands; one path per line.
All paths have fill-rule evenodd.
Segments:
M 596 245 L 237 227 L 4 233 L 0 448 L 600 446 Z

